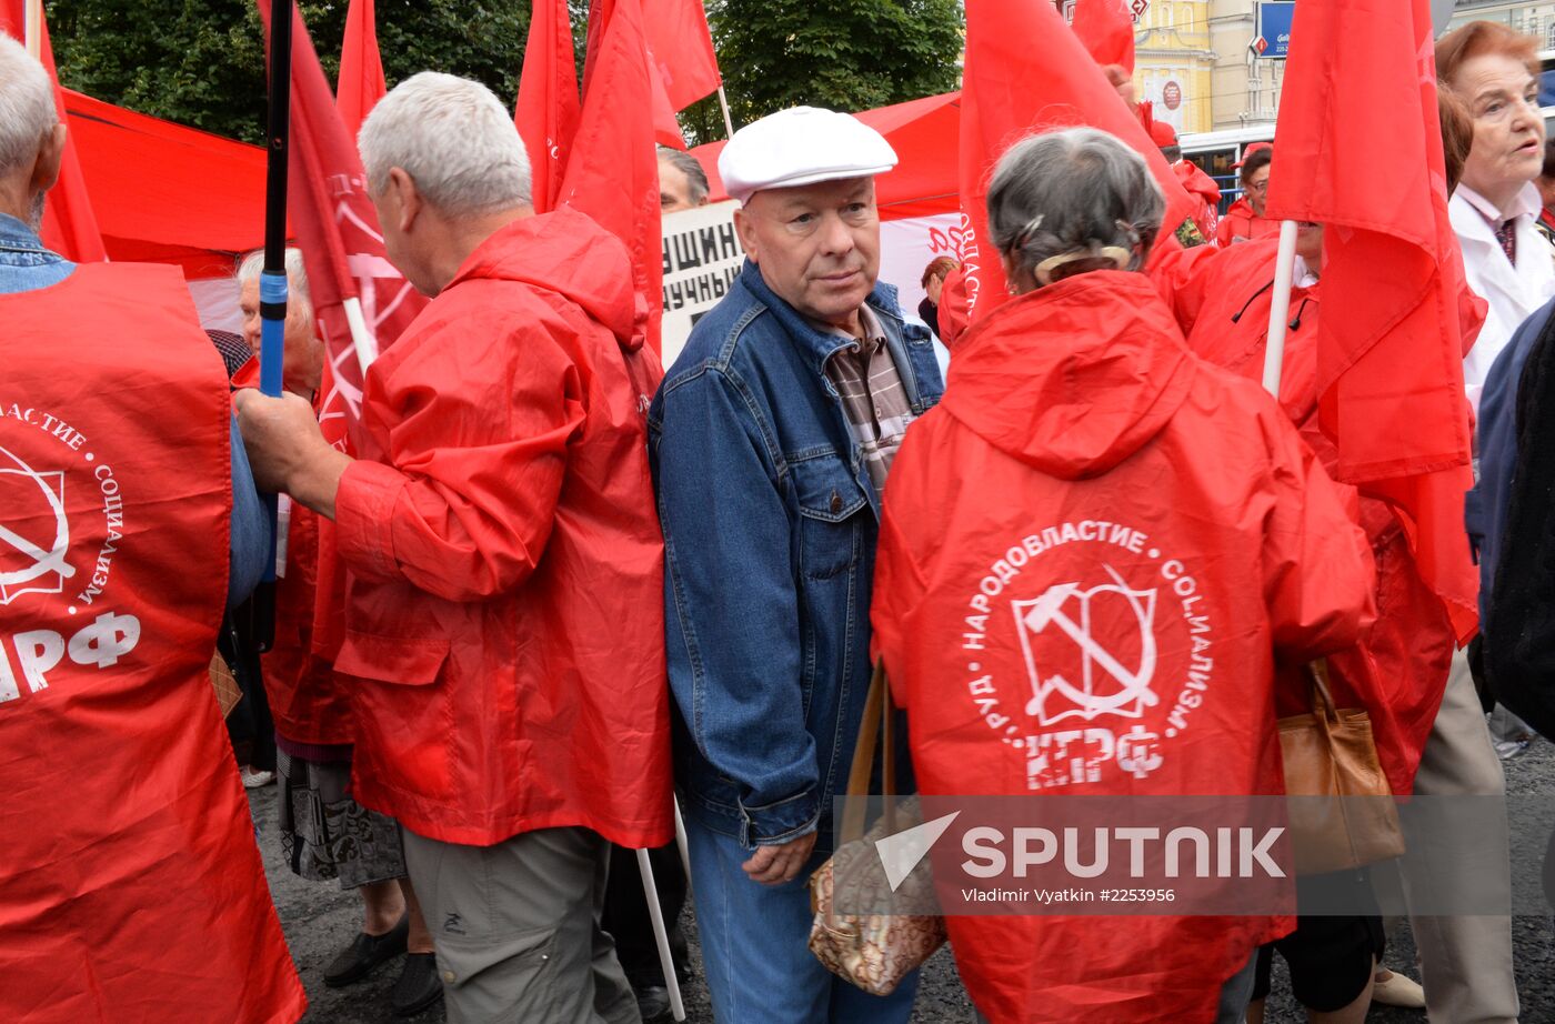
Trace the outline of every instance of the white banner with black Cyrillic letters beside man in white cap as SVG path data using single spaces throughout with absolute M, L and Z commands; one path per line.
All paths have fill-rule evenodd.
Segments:
M 734 232 L 732 199 L 664 214 L 664 326 L 661 354 L 666 371 L 686 347 L 690 328 L 718 305 L 745 263 Z

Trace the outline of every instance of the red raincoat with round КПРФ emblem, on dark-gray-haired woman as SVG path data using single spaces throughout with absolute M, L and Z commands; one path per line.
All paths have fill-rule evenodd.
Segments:
M 1350 646 L 1372 617 L 1370 553 L 1342 494 L 1256 385 L 1188 353 L 1138 273 L 1059 281 L 967 334 L 941 407 L 897 454 L 877 558 L 875 648 L 925 794 L 1280 794 L 1275 653 Z M 1138 664 L 1132 682 L 1154 698 L 1113 693 L 1121 676 L 1023 618 L 1076 584 L 1070 617 Z M 969 698 L 969 671 L 1020 746 Z M 1096 682 L 1054 688 L 1062 677 Z M 1084 775 L 1039 754 L 1076 718 L 1118 749 Z M 1146 737 L 1152 763 L 1121 763 Z M 995 1024 L 1211 1019 L 1219 985 L 1292 923 L 949 918 Z

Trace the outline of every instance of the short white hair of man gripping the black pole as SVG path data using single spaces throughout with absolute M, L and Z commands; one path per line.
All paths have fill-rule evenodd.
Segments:
M 356 145 L 375 194 L 401 168 L 449 216 L 529 204 L 524 140 L 496 95 L 468 78 L 412 75 L 378 101 Z

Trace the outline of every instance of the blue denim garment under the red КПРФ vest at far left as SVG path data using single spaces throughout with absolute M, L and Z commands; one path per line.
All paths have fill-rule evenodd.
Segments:
M 17 295 L 59 284 L 75 273 L 76 264 L 51 252 L 37 233 L 12 216 L 0 213 L 0 295 Z M 227 552 L 227 608 L 241 604 L 264 572 L 271 550 L 271 522 L 253 489 L 249 454 L 238 435 L 238 421 L 229 426 L 232 444 L 232 536 Z

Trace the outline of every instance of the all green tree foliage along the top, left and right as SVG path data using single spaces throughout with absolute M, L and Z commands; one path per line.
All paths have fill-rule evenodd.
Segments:
M 269 2 L 269 0 L 266 0 Z M 330 81 L 347 0 L 299 0 Z M 512 106 L 530 0 L 378 0 L 389 85 L 465 75 Z M 582 78 L 588 0 L 569 0 Z M 264 39 L 253 0 L 48 0 L 61 81 L 219 135 L 264 137 Z M 955 89 L 959 0 L 708 0 L 734 124 L 795 104 L 863 110 Z M 723 138 L 717 96 L 689 107 L 692 143 Z

